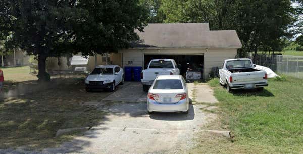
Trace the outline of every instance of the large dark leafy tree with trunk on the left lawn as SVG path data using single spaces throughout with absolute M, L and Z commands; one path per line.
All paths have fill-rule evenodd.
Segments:
M 138 39 L 147 10 L 138 0 L 2 0 L 0 36 L 12 33 L 7 45 L 38 57 L 39 80 L 45 60 L 81 52 L 114 52 Z

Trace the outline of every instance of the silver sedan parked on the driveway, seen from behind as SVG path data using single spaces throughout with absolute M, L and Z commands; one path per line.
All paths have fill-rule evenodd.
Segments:
M 181 75 L 159 75 L 147 95 L 147 110 L 151 112 L 188 113 L 187 85 Z

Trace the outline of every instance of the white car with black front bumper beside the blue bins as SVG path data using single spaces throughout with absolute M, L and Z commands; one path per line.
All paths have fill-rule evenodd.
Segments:
M 108 89 L 115 91 L 116 86 L 124 83 L 124 71 L 118 65 L 100 65 L 85 78 L 85 90 Z

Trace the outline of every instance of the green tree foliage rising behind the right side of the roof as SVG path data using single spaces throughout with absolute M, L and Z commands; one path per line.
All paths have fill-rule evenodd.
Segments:
M 259 46 L 277 48 L 294 21 L 290 0 L 162 0 L 160 10 L 167 23 L 208 22 L 211 30 L 235 29 L 243 45 L 240 56 L 257 53 Z

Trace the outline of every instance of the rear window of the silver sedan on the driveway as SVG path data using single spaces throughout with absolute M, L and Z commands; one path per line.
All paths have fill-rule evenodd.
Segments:
M 181 80 L 156 80 L 153 89 L 183 89 Z

